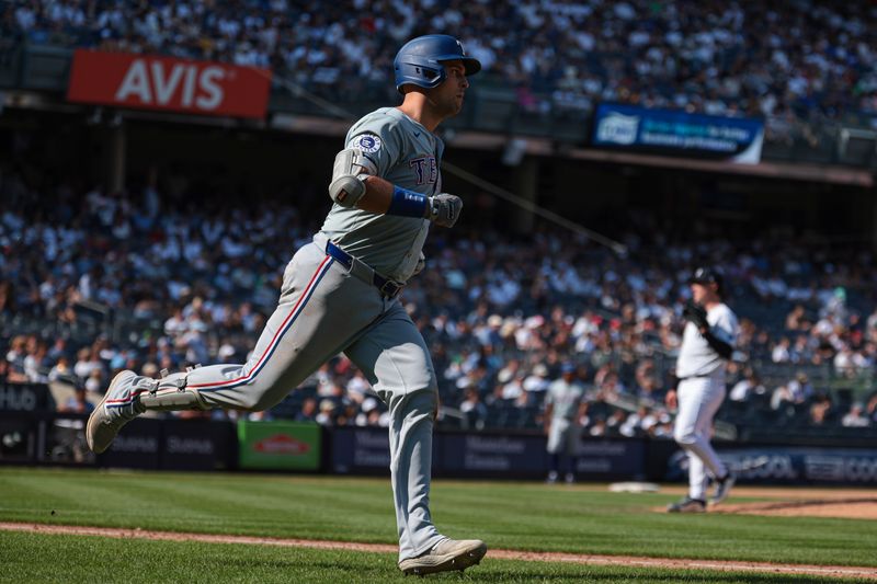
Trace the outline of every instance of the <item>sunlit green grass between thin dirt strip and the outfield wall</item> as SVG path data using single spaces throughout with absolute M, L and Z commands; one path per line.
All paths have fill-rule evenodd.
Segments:
M 605 485 L 441 480 L 430 500 L 442 533 L 497 549 L 877 569 L 875 520 L 663 513 L 676 489 L 628 494 Z M 385 479 L 0 467 L 0 522 L 372 543 L 397 538 Z M 736 490 L 732 504 L 749 493 L 767 490 Z M 772 499 L 815 496 L 806 489 L 788 493 Z M 874 493 L 834 494 L 858 495 Z

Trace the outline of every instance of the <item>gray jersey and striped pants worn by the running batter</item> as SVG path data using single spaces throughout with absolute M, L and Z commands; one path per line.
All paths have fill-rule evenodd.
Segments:
M 375 163 L 377 175 L 392 184 L 425 195 L 440 190 L 442 141 L 399 110 L 380 108 L 363 117 L 350 129 L 346 147 L 360 148 Z M 196 400 L 202 408 L 264 410 L 343 351 L 392 417 L 390 470 L 399 560 L 430 550 L 444 539 L 429 509 L 435 373 L 417 327 L 399 300 L 383 294 L 374 279 L 376 272 L 405 283 L 418 267 L 428 230 L 426 219 L 335 204 L 312 243 L 287 265 L 280 304 L 248 363 L 174 374 L 151 394 L 144 392 L 146 385 L 137 389 L 134 382 L 106 408 L 132 406 L 143 396 L 138 408 L 179 409 L 169 404 Z

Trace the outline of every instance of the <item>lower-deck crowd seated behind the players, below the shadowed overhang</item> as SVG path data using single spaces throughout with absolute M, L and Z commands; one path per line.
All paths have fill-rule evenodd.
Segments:
M 274 308 L 283 266 L 319 227 L 288 204 L 235 208 L 180 196 L 173 176 L 118 195 L 80 193 L 65 181 L 37 188 L 27 176 L 0 169 L 0 377 L 9 381 L 67 381 L 99 394 L 122 368 L 156 376 L 243 363 Z M 870 382 L 877 310 L 867 307 L 877 307 L 877 266 L 868 253 L 807 240 L 693 244 L 659 232 L 654 240 L 629 233 L 630 253 L 617 256 L 548 230 L 523 241 L 467 233 L 464 220 L 455 231 L 433 233 L 428 270 L 402 295 L 432 348 L 445 423 L 536 427 L 549 382 L 572 363 L 588 390 L 589 433 L 669 435 L 663 394 L 685 280 L 708 264 L 726 274 L 742 317 L 720 417 L 877 424 L 877 393 L 829 390 L 830 379 Z M 82 399 L 60 405 L 89 408 Z M 264 415 L 387 423 L 343 356 Z

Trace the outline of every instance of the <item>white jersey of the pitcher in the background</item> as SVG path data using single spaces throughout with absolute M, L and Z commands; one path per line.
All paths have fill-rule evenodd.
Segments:
M 707 310 L 706 321 L 717 339 L 734 346 L 739 325 L 737 316 L 727 305 L 719 304 Z M 685 377 L 706 377 L 724 373 L 725 367 L 725 359 L 709 346 L 709 343 L 706 342 L 697 327 L 692 322 L 687 322 L 682 334 L 682 347 L 680 347 L 679 360 L 676 362 L 676 377 L 680 379 Z

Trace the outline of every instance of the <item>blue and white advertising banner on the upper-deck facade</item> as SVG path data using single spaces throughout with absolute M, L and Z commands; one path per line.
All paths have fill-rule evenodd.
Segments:
M 758 164 L 764 123 L 749 117 L 601 103 L 594 112 L 591 141 L 600 147 Z

